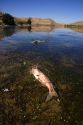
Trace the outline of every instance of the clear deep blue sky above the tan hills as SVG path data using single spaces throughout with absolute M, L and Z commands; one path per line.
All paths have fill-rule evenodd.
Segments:
M 16 17 L 51 18 L 59 23 L 83 20 L 83 0 L 0 0 L 0 11 Z

